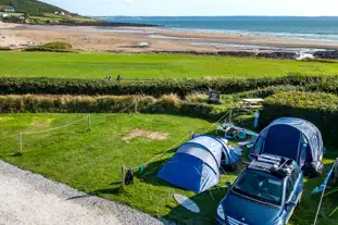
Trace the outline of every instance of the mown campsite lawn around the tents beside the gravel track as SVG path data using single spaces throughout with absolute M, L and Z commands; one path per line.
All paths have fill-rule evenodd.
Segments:
M 155 177 L 175 149 L 157 159 L 142 175 L 136 174 L 135 185 L 120 188 L 121 166 L 137 166 L 170 148 L 191 130 L 203 132 L 211 123 L 198 118 L 173 115 L 148 114 L 96 114 L 91 116 L 91 132 L 87 122 L 71 125 L 43 134 L 23 136 L 24 154 L 15 157 L 18 150 L 17 133 L 41 130 L 62 126 L 84 114 L 0 114 L 0 159 L 25 170 L 67 184 L 86 192 L 116 200 L 133 208 L 176 220 L 183 224 L 212 224 L 220 200 L 226 192 L 225 182 L 233 182 L 236 173 L 223 175 L 218 186 L 202 195 L 172 187 Z M 167 133 L 163 140 L 135 137 L 123 140 L 132 130 L 143 129 Z M 328 149 L 326 164 L 334 162 L 338 151 Z M 242 167 L 242 165 L 241 165 Z M 305 180 L 302 204 L 295 211 L 291 224 L 311 224 L 314 218 L 318 196 L 310 196 L 311 189 L 322 178 Z M 201 208 L 200 214 L 192 214 L 177 207 L 173 193 L 190 197 Z M 337 224 L 338 213 L 328 214 L 338 205 L 337 195 L 327 197 L 321 211 L 320 223 Z

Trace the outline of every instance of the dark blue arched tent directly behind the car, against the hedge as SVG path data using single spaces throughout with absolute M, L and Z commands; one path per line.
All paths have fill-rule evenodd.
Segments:
M 281 117 L 261 132 L 252 152 L 286 157 L 302 167 L 311 163 L 321 164 L 324 147 L 315 125 L 301 118 Z

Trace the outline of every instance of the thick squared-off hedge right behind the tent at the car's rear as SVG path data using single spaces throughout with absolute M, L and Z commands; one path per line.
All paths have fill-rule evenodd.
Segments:
M 300 117 L 315 124 L 322 132 L 324 142 L 338 145 L 338 97 L 324 92 L 289 91 L 265 99 L 260 128 L 278 117 Z

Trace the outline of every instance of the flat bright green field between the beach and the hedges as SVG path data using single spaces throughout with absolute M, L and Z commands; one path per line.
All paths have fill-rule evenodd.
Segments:
M 267 77 L 338 74 L 338 63 L 184 54 L 0 52 L 0 76 L 123 78 Z

